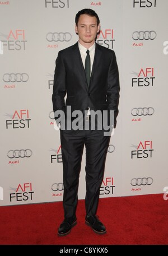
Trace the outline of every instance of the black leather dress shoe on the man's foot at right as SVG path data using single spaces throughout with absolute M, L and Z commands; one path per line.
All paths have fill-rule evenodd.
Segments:
M 97 234 L 106 233 L 106 228 L 99 220 L 98 216 L 86 216 L 85 224 L 90 226 Z

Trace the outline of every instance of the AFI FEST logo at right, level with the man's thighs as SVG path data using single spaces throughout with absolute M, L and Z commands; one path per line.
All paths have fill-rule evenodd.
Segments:
M 132 145 L 132 147 L 136 147 L 137 150 L 131 151 L 131 158 L 139 159 L 139 158 L 152 158 L 152 141 L 140 141 L 138 146 Z

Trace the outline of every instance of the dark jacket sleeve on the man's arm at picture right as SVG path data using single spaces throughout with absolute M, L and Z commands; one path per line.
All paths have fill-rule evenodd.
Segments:
M 118 105 L 119 105 L 119 71 L 116 63 L 115 52 L 111 58 L 109 72 L 108 72 L 108 88 L 106 92 L 106 100 L 108 103 L 108 109 L 114 110 L 114 125 L 116 126 L 116 117 L 118 116 Z

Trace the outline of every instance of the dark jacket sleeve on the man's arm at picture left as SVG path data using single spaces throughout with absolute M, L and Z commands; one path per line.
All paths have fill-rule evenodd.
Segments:
M 65 108 L 66 96 L 66 68 L 63 63 L 62 54 L 59 52 L 58 57 L 55 61 L 55 72 L 54 72 L 54 85 L 53 85 L 53 111 L 63 110 Z M 54 115 L 55 116 L 55 115 Z M 58 117 L 57 117 L 58 118 Z M 55 120 L 57 120 L 55 117 Z

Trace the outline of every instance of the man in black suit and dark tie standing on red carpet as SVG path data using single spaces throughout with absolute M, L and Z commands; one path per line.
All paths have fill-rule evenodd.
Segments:
M 99 111 L 99 114 L 102 114 L 106 111 L 110 122 L 111 110 L 114 112 L 116 125 L 120 90 L 114 51 L 96 43 L 97 34 L 100 32 L 97 13 L 91 9 L 83 9 L 77 13 L 75 23 L 78 42 L 58 53 L 52 96 L 55 120 L 60 126 L 63 159 L 64 220 L 58 229 L 60 236 L 67 235 L 77 224 L 78 181 L 84 146 L 86 149 L 85 223 L 97 234 L 106 233 L 106 228 L 96 216 L 96 211 L 110 133 L 105 136 L 104 126 L 102 129 L 98 127 L 103 123 L 99 118 L 99 122 L 96 119 L 94 129 L 91 128 L 91 113 Z M 89 52 L 86 53 L 87 50 Z M 66 101 L 65 97 L 67 97 Z M 78 119 L 75 126 L 72 123 L 75 121 L 76 111 L 81 111 L 82 119 Z

